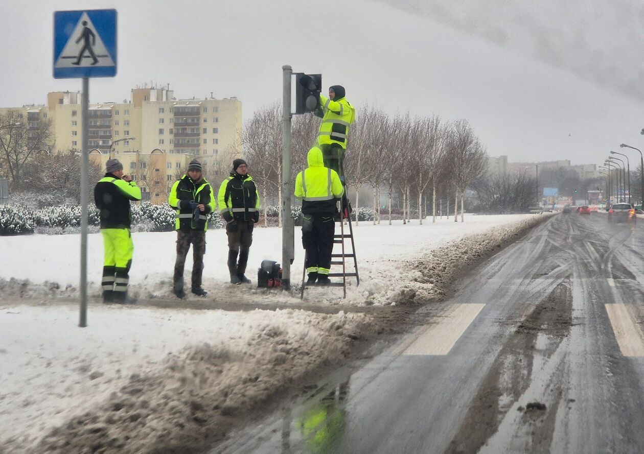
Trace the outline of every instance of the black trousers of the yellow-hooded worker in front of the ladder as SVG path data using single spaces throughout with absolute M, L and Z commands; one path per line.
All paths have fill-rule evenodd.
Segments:
M 333 253 L 336 221 L 332 214 L 305 214 L 302 218 L 302 246 L 307 250 L 307 271 L 328 274 Z M 317 268 L 317 269 L 312 269 Z

